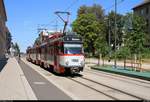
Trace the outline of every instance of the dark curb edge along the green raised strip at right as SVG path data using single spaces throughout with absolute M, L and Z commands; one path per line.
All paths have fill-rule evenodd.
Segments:
M 150 81 L 150 77 L 144 77 L 144 76 L 139 76 L 139 75 L 134 75 L 134 74 L 128 74 L 128 73 L 123 73 L 123 72 L 111 71 L 111 70 L 102 69 L 102 68 L 96 68 L 96 67 L 91 67 L 91 69 Z

